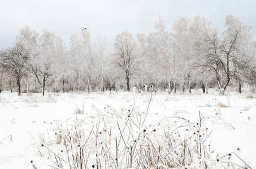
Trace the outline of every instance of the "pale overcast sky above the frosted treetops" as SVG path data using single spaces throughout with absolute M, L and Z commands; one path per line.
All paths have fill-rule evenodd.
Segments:
M 166 30 L 177 16 L 188 18 L 205 15 L 220 32 L 224 30 L 225 16 L 241 17 L 245 25 L 253 26 L 256 36 L 255 0 L 1 0 L 0 4 L 0 48 L 11 46 L 20 29 L 42 33 L 48 29 L 63 37 L 67 46 L 71 33 L 88 29 L 92 41 L 97 32 L 106 37 L 106 45 L 112 46 L 116 34 L 124 30 L 148 35 L 154 29 L 158 16 L 163 18 Z

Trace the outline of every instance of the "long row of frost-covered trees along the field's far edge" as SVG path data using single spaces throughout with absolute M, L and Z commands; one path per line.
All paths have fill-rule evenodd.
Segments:
M 167 31 L 159 18 L 146 36 L 125 31 L 113 47 L 88 30 L 70 35 L 70 49 L 62 37 L 44 30 L 40 35 L 25 27 L 14 45 L 0 52 L 0 92 L 129 91 L 153 84 L 169 94 L 192 88 L 237 87 L 256 84 L 256 43 L 251 26 L 228 15 L 219 33 L 203 16 L 180 15 Z M 169 28 L 168 28 L 169 29 Z

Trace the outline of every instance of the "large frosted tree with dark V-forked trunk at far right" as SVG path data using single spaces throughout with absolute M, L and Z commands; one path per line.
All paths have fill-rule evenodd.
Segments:
M 201 50 L 205 55 L 199 64 L 202 69 L 213 70 L 221 94 L 224 94 L 232 79 L 238 81 L 242 70 L 250 69 L 250 52 L 252 43 L 250 26 L 243 25 L 242 21 L 233 15 L 226 17 L 227 30 L 219 36 L 218 29 L 208 27 L 204 32 Z M 249 47 L 249 48 L 248 48 Z

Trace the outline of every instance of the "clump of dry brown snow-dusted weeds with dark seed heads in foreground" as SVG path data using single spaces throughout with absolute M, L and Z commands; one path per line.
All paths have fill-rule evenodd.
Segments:
M 212 157 L 211 146 L 206 145 L 211 131 L 203 124 L 201 113 L 198 122 L 173 116 L 175 123 L 167 127 L 161 122 L 153 126 L 147 124 L 150 103 L 157 91 L 153 86 L 144 87 L 149 96 L 144 114 L 133 114 L 140 107 L 137 99 L 141 94 L 141 91 L 136 93 L 133 89 L 134 105 L 127 110 L 125 119 L 106 123 L 104 117 L 98 117 L 95 123 L 59 123 L 55 139 L 41 145 L 49 157 L 49 166 L 80 169 L 237 168 L 231 159 L 225 161 L 225 155 L 222 158 Z M 33 163 L 33 166 L 36 165 Z M 245 166 L 249 168 L 245 163 L 238 167 Z

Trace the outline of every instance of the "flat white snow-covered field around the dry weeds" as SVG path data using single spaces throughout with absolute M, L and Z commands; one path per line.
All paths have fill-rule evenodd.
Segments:
M 93 124 L 101 126 L 105 123 L 108 130 L 112 126 L 115 135 L 118 133 L 114 129 L 117 122 L 138 117 L 143 120 L 147 115 L 144 126 L 157 135 L 168 128 L 179 127 L 183 121 L 198 125 L 199 114 L 203 117 L 202 128 L 208 131 L 205 145 L 212 159 L 233 161 L 238 164 L 235 165 L 237 168 L 244 167 L 244 163 L 256 168 L 255 94 L 230 92 L 220 96 L 217 92 L 194 92 L 191 95 L 168 95 L 167 92 L 156 92 L 153 95 L 147 112 L 149 96 L 146 92 L 138 96 L 136 93 L 136 109 L 128 117 L 134 105 L 132 92 L 47 93 L 44 97 L 41 94 L 17 96 L 16 93 L 2 92 L 0 168 L 34 168 L 31 161 L 38 169 L 52 168 L 49 165 L 53 165 L 55 158 L 47 159 L 47 150 L 39 145 L 47 144 L 56 151 L 60 149 L 62 145 L 54 143 L 54 132 L 61 132 L 59 126 L 68 128 L 72 124 L 73 127 L 85 124 L 88 127 L 85 127 L 88 130 L 85 132 L 89 135 Z M 185 137 L 186 134 L 181 139 Z M 225 156 L 230 159 L 224 159 Z M 92 168 L 92 163 L 93 159 L 88 168 Z

